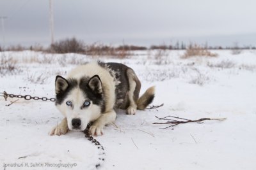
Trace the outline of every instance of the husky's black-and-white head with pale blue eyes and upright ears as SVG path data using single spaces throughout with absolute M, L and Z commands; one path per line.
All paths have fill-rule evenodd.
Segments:
M 67 117 L 68 129 L 83 131 L 104 111 L 102 83 L 98 75 L 77 79 L 56 76 L 56 106 Z

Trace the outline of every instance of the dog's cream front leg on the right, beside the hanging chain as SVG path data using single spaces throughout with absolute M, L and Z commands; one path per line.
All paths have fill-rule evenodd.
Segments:
M 93 122 L 92 126 L 89 129 L 90 134 L 95 136 L 100 136 L 103 134 L 103 128 L 107 124 L 111 124 L 116 120 L 116 112 L 114 110 L 110 110 L 106 113 L 100 115 L 95 122 Z

